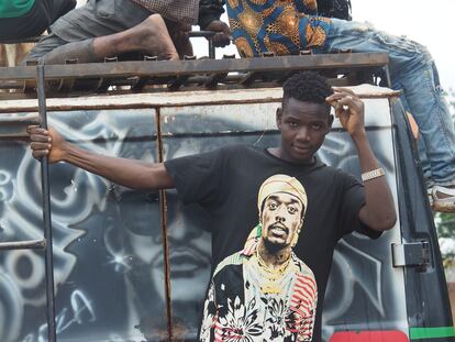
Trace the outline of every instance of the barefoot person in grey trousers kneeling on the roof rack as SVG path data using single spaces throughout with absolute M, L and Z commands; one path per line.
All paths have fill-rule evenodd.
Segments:
M 212 1 L 90 0 L 57 20 L 52 34 L 25 60 L 90 63 L 134 52 L 178 59 L 192 55 L 187 32 L 197 23 L 215 31 L 214 45 L 224 46 L 230 43 L 230 30 L 219 20 L 223 9 L 213 8 Z

